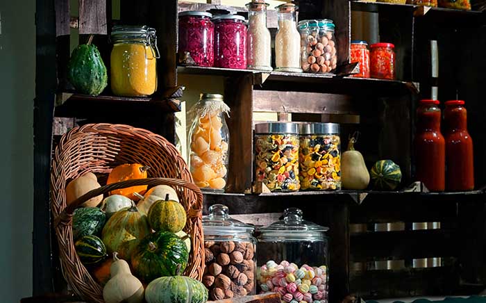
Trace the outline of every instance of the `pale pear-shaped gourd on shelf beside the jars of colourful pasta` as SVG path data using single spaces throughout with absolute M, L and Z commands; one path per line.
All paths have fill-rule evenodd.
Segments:
M 342 188 L 364 190 L 369 184 L 369 172 L 362 154 L 354 149 L 355 138 L 349 140 L 348 150 L 341 156 Z

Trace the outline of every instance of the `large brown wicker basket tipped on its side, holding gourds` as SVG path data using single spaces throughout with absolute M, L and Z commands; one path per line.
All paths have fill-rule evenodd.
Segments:
M 113 167 L 124 163 L 143 163 L 151 169 L 148 178 L 102 186 L 90 191 L 67 207 L 65 186 L 71 179 L 86 172 L 106 175 Z M 103 183 L 103 177 L 99 177 Z M 183 158 L 165 138 L 144 129 L 120 124 L 87 124 L 62 136 L 51 168 L 51 209 L 59 243 L 62 273 L 77 295 L 84 300 L 103 302 L 102 288 L 79 261 L 72 237 L 72 213 L 76 206 L 90 197 L 110 190 L 146 184 L 166 184 L 176 189 L 187 211 L 185 232 L 192 239 L 192 254 L 184 275 L 199 279 L 203 276 L 204 247 L 201 211 L 203 195 L 192 183 Z

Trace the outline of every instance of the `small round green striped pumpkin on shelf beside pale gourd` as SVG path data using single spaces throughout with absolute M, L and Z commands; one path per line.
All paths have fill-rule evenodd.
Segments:
M 391 160 L 380 160 L 371 167 L 371 183 L 378 190 L 394 190 L 401 182 L 401 170 Z

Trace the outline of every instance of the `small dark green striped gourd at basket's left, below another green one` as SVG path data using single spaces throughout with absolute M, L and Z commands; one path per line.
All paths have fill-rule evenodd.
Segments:
M 106 256 L 108 256 L 103 241 L 93 235 L 79 238 L 76 243 L 74 243 L 74 248 L 76 249 L 76 253 L 81 260 L 81 263 L 85 265 L 100 263 Z

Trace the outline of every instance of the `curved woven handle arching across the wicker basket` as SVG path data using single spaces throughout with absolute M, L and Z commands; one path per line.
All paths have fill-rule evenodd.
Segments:
M 203 194 L 196 184 L 181 180 L 181 179 L 171 179 L 171 178 L 146 178 L 146 179 L 133 179 L 128 181 L 121 181 L 117 183 L 111 183 L 106 186 L 101 186 L 100 188 L 96 188 L 94 190 L 90 190 L 89 192 L 85 193 L 78 199 L 74 200 L 71 204 L 69 204 L 62 213 L 58 215 L 56 218 L 56 225 L 60 222 L 67 223 L 71 222 L 72 215 L 74 213 L 74 209 L 86 202 L 87 200 L 91 199 L 92 197 L 97 197 L 99 195 L 104 195 L 106 193 L 110 193 L 112 190 L 117 190 L 121 188 L 129 188 L 132 186 L 158 186 L 158 185 L 168 185 L 168 186 L 182 186 L 189 190 L 192 190 L 196 193 L 197 199 L 200 202 L 199 206 L 202 207 L 203 205 Z M 197 217 L 201 216 L 201 208 L 192 208 L 188 213 L 189 217 Z

